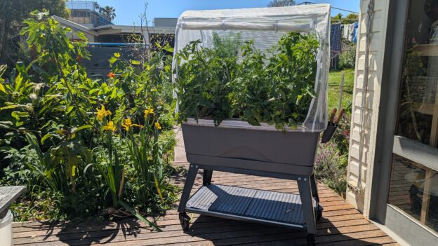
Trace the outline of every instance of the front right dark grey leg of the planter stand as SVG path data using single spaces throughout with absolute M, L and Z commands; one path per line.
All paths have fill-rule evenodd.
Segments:
M 312 204 L 312 188 L 310 176 L 301 177 L 297 180 L 298 189 L 300 191 L 301 203 L 303 205 L 304 219 L 306 221 L 307 234 L 317 234 L 317 223 L 315 219 L 315 212 Z

